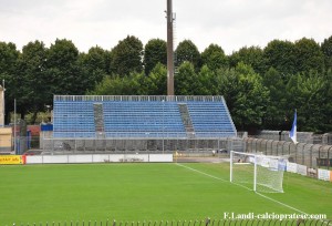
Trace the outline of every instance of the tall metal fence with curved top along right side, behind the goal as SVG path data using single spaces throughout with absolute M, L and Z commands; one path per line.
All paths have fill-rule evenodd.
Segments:
M 332 167 L 332 145 L 307 144 L 263 138 L 243 138 L 243 152 L 264 155 L 286 155 L 290 162 L 310 168 Z

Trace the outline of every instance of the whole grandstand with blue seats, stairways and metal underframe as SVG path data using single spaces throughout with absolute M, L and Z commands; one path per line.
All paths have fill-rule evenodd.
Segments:
M 219 143 L 236 136 L 222 96 L 54 96 L 51 150 L 65 143 L 71 151 L 164 151 L 166 142 L 166 150 L 174 151 L 189 148 L 188 141 Z M 124 144 L 126 140 L 131 142 Z

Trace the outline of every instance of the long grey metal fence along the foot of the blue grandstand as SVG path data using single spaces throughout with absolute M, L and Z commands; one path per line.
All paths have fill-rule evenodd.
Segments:
M 175 151 L 242 151 L 242 140 L 234 138 L 50 138 L 43 137 L 40 148 L 50 152 L 105 153 L 105 152 L 175 152 Z

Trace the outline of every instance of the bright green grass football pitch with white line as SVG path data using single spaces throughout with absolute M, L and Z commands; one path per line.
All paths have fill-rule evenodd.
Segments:
M 286 173 L 283 189 L 260 195 L 231 184 L 227 163 L 0 166 L 0 225 L 224 219 L 249 213 L 332 218 L 332 183 Z

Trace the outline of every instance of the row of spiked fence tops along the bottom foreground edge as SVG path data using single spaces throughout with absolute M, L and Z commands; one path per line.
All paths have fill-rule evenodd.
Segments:
M 203 220 L 155 220 L 155 222 L 51 222 L 13 224 L 13 226 L 331 226 L 328 219 L 203 219 Z

